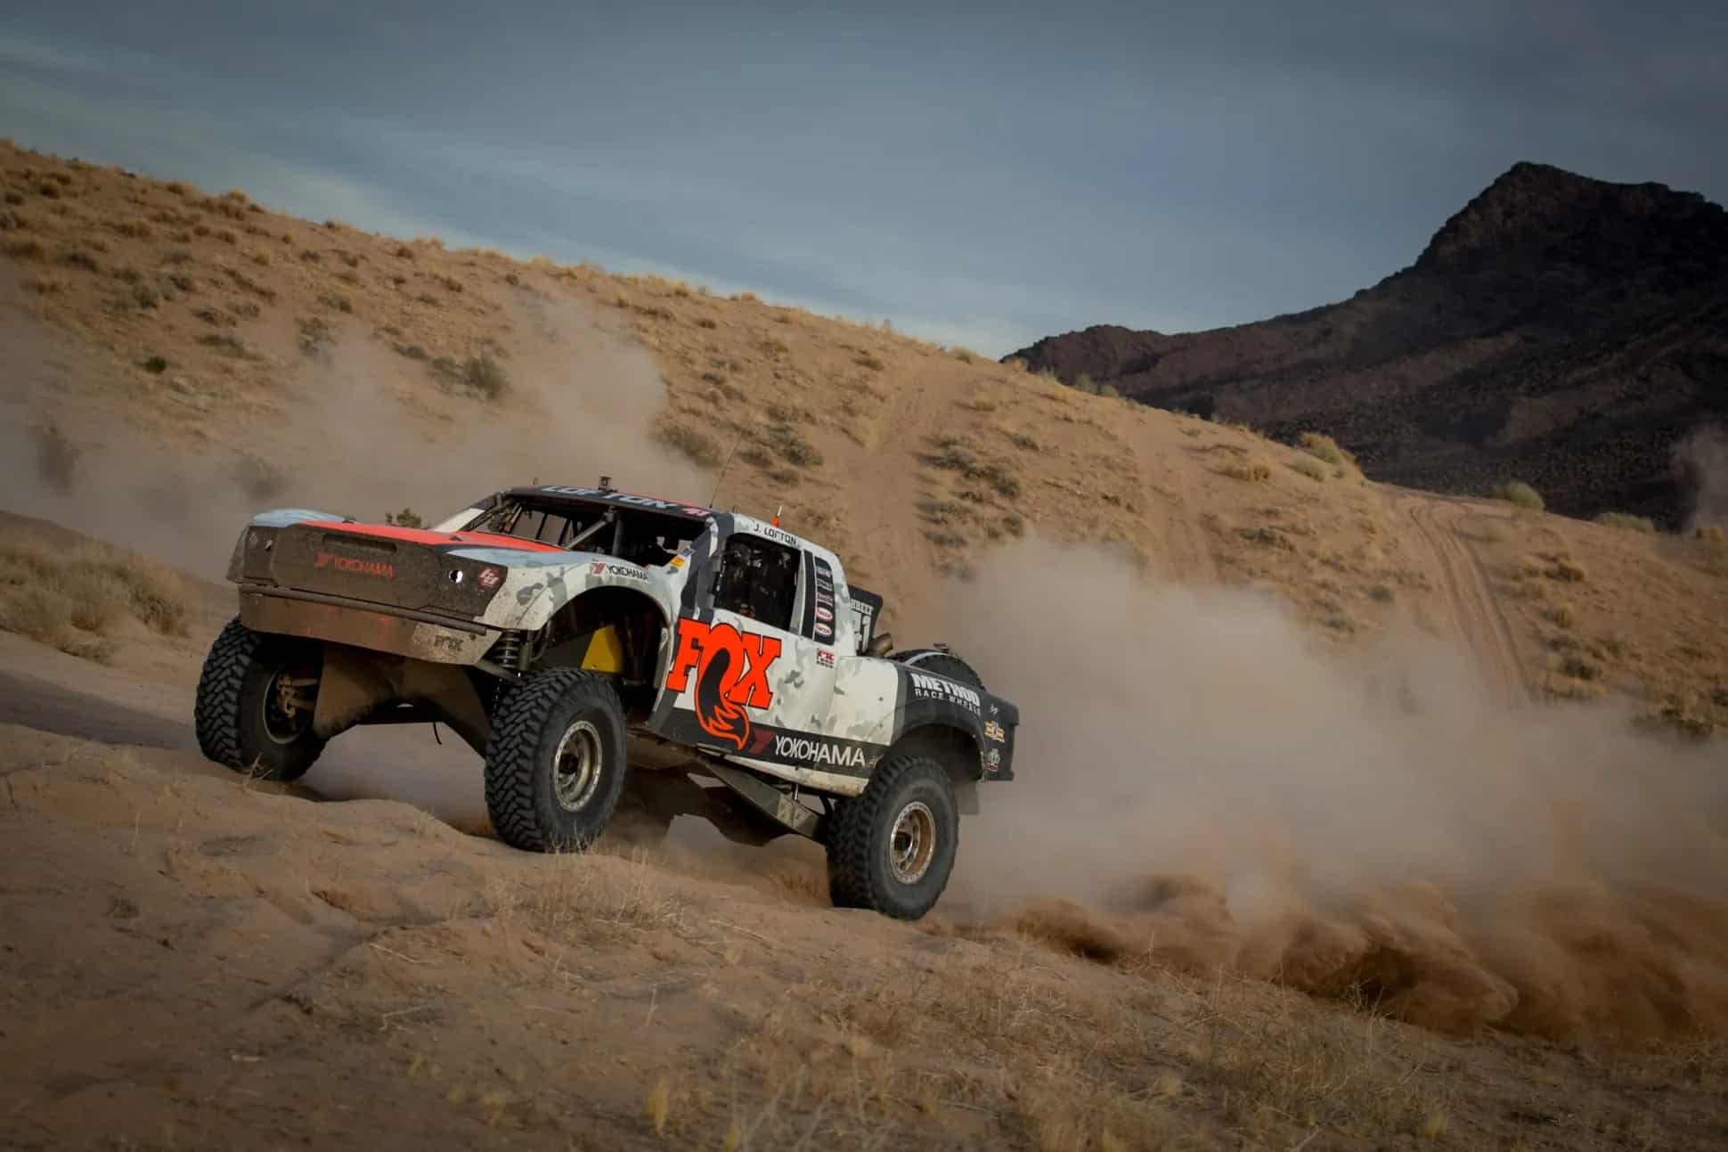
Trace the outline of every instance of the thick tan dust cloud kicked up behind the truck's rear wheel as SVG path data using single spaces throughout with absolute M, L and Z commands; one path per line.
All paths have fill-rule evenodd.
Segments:
M 1443 1031 L 1728 1029 L 1719 744 L 1514 706 L 1415 630 L 1344 656 L 1268 595 L 1104 552 L 976 573 L 909 605 L 1023 721 L 945 917 Z

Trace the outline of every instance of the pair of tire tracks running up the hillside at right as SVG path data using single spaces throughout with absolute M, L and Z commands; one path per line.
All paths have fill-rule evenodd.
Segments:
M 1476 550 L 1458 534 L 1458 521 L 1469 507 L 1446 496 L 1415 493 L 1394 495 L 1393 507 L 1415 528 L 1415 538 L 1429 554 L 1427 567 L 1439 578 L 1453 628 L 1471 645 L 1483 673 L 1495 685 L 1515 692 L 1517 699 L 1534 699 L 1512 626 L 1488 585 L 1488 573 Z

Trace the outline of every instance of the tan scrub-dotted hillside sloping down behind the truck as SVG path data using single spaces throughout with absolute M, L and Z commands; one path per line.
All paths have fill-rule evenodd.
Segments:
M 964 349 L 17 149 L 3 176 L 14 510 L 206 576 L 259 507 L 439 515 L 605 472 L 783 509 L 888 595 L 890 628 L 931 571 L 1037 531 L 1113 541 L 1166 578 L 1267 583 L 1346 642 L 1415 621 L 1481 638 L 1493 675 L 1529 690 L 1728 720 L 1712 541 L 1481 502 L 1424 529 L 1422 496 L 1329 450 L 1322 467 Z M 1585 579 L 1547 576 L 1562 555 Z M 1638 612 L 1616 609 L 1628 598 Z

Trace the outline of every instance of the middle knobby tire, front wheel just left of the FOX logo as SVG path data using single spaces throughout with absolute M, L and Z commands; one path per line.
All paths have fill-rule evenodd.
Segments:
M 627 763 L 610 680 L 575 668 L 529 673 L 492 716 L 486 811 L 511 848 L 586 851 L 619 806 Z

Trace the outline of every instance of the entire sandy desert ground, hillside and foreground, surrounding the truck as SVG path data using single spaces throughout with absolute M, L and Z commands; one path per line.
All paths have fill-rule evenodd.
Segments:
M 753 298 L 0 182 L 0 1143 L 1728 1136 L 1723 541 Z M 802 841 L 511 853 L 418 725 L 292 790 L 192 754 L 249 510 L 600 472 L 783 507 L 1021 702 L 938 915 L 826 906 Z

